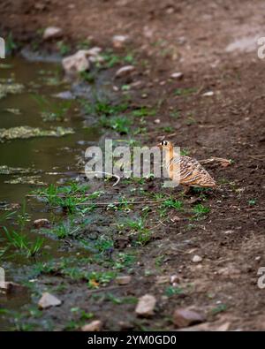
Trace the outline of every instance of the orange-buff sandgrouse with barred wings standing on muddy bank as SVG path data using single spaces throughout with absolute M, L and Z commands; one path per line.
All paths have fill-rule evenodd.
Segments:
M 178 178 L 179 184 L 185 187 L 185 193 L 191 186 L 216 187 L 215 179 L 208 174 L 201 163 L 189 156 L 180 156 L 179 159 L 170 141 L 163 140 L 158 147 L 165 151 L 165 167 L 170 179 Z

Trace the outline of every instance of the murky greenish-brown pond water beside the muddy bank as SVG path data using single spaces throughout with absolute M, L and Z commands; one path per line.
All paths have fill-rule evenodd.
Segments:
M 2 62 L 4 62 L 4 65 Z M 55 183 L 58 179 L 65 178 L 65 176 L 67 177 L 67 174 L 69 178 L 74 177 L 74 172 L 77 171 L 75 166 L 75 163 L 77 163 L 76 156 L 80 156 L 88 144 L 99 139 L 100 130 L 96 126 L 90 125 L 89 118 L 88 120 L 85 119 L 86 117 L 82 115 L 80 105 L 76 100 L 72 100 L 69 110 L 66 111 L 65 121 L 43 121 L 42 112 L 45 110 L 33 96 L 42 95 L 45 101 L 60 106 L 63 100 L 54 95 L 72 90 L 70 83 L 63 79 L 60 64 L 29 62 L 22 57 L 8 58 L 1 60 L 0 63 L 2 64 L 2 66 L 0 65 L 0 83 L 12 81 L 23 84 L 25 87 L 22 93 L 6 95 L 0 99 L 0 128 L 27 125 L 47 130 L 55 126 L 64 126 L 71 127 L 74 131 L 74 133 L 63 137 L 36 137 L 8 140 L 0 143 L 0 166 L 7 165 L 12 168 L 30 169 L 27 174 L 0 174 L 0 207 L 2 208 L 0 216 L 2 216 L 4 214 L 3 208 L 7 208 L 8 205 L 13 203 L 21 204 L 27 193 L 39 187 L 33 184 L 7 184 L 6 181 L 38 175 L 40 176 L 39 181 L 49 184 Z M 93 95 L 95 90 L 107 94 L 108 88 L 107 85 L 104 86 L 103 82 L 99 81 L 95 87 L 76 85 L 72 92 L 75 95 L 89 97 L 89 94 Z M 34 200 L 27 202 L 26 210 L 30 216 L 29 224 L 31 224 L 31 227 L 34 219 L 47 217 L 47 214 L 42 212 L 42 206 L 40 207 L 40 204 Z M 12 220 L 1 222 L 1 225 L 16 229 L 16 224 L 14 225 Z M 1 251 L 6 246 L 6 240 L 4 239 L 3 229 L 0 229 Z M 37 234 L 31 232 L 30 227 L 27 228 L 26 233 L 30 239 L 36 238 Z M 43 254 L 41 261 L 64 254 L 58 248 L 56 240 L 45 239 L 45 246 L 49 247 L 47 249 L 49 253 Z M 12 256 L 11 259 L 0 259 L 0 266 L 4 267 L 8 281 L 20 282 L 24 277 L 24 268 L 34 262 L 36 261 L 22 258 L 18 254 Z M 27 302 L 29 302 L 27 294 L 23 294 L 23 296 L 19 294 L 19 297 L 11 299 L 3 299 L 0 296 L 0 308 L 19 311 L 19 308 Z M 8 329 L 8 325 L 0 317 L 1 329 Z

